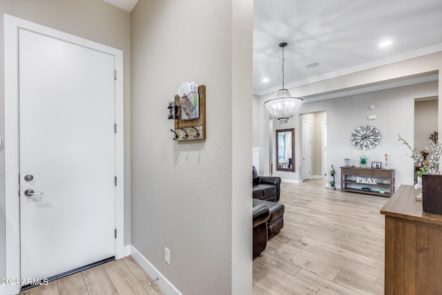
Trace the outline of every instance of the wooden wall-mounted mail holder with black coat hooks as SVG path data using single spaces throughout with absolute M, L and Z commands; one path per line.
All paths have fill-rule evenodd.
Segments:
M 183 121 L 176 119 L 174 130 L 177 133 L 178 141 L 205 140 L 206 139 L 206 86 L 198 86 L 200 95 L 200 117 L 195 120 Z M 175 104 L 179 105 L 179 97 L 175 95 Z M 178 117 L 181 117 L 181 109 L 178 110 Z M 184 130 L 183 130 L 184 129 Z M 187 137 L 185 136 L 187 133 Z M 199 133 L 199 136 L 197 136 Z

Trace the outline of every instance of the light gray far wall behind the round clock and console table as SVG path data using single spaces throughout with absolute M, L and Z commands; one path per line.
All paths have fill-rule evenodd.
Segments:
M 400 133 L 413 146 L 414 99 L 434 96 L 437 93 L 438 82 L 427 82 L 307 103 L 302 106 L 301 111 L 306 113 L 327 111 L 327 167 L 334 164 L 338 185 L 340 184 L 338 167 L 343 166 L 343 159 L 349 158 L 352 164 L 358 165 L 361 150 L 352 145 L 350 140 L 352 131 L 361 125 L 375 126 L 381 133 L 381 142 L 376 148 L 365 151 L 365 154 L 369 157 L 369 163 L 376 161 L 383 162 L 383 165 L 385 165 L 385 153 L 389 155 L 389 166 L 396 169 L 397 189 L 401 184 L 414 182 L 413 161 L 407 157 L 410 153 L 405 146 L 398 143 L 396 133 Z M 375 104 L 376 109 L 369 110 L 370 104 Z M 376 115 L 377 119 L 367 120 L 368 115 Z M 298 117 L 292 118 L 291 124 L 300 131 L 302 119 Z M 297 132 L 296 141 L 299 143 L 300 140 L 302 134 Z M 296 144 L 296 148 L 300 151 L 300 144 Z M 297 152 L 298 155 L 299 153 Z M 296 158 L 300 162 L 299 157 Z M 301 171 L 300 168 L 297 171 Z M 289 175 L 285 174 L 287 172 L 278 173 L 282 178 L 289 178 Z

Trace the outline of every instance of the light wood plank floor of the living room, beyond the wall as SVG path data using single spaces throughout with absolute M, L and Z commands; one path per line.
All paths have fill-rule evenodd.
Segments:
M 284 228 L 253 260 L 253 294 L 384 294 L 387 200 L 283 182 Z

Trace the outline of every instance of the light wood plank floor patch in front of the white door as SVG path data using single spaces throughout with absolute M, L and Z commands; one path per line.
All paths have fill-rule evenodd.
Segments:
M 20 292 L 19 295 L 164 295 L 135 260 L 111 261 Z

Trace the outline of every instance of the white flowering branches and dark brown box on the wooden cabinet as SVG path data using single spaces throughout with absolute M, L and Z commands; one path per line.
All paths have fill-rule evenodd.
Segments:
M 421 153 L 416 153 L 410 144 L 398 134 L 398 141 L 405 144 L 412 152 L 410 158 L 419 166 L 418 186 L 422 188 L 422 209 L 427 213 L 442 214 L 442 171 L 440 160 L 442 154 L 442 142 L 430 140 L 430 149 L 425 146 Z M 430 160 L 427 160 L 430 155 Z M 419 179 L 421 178 L 421 179 Z M 419 185 L 420 184 L 420 185 Z

